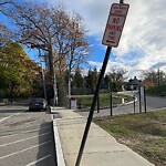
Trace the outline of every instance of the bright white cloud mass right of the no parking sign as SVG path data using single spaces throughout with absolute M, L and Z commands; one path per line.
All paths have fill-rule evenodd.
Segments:
M 131 9 L 116 53 L 123 60 L 124 53 L 131 50 L 142 51 L 142 56 L 133 56 L 137 60 L 136 70 L 148 70 L 156 63 L 166 62 L 166 1 L 128 2 Z

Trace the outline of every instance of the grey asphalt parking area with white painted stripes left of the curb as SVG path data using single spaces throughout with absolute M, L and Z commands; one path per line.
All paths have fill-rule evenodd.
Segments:
M 0 106 L 0 166 L 56 166 L 51 115 Z

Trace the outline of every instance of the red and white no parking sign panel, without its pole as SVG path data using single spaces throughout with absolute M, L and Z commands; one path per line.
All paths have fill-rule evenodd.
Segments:
M 107 46 L 116 48 L 123 31 L 129 4 L 113 3 L 107 19 L 102 43 Z

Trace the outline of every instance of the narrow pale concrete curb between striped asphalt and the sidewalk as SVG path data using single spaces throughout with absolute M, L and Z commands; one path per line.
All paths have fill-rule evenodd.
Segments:
M 53 134 L 54 134 L 54 141 L 55 141 L 55 151 L 56 151 L 56 164 L 58 164 L 58 166 L 65 166 L 63 151 L 61 147 L 60 135 L 59 135 L 59 131 L 56 127 L 58 125 L 56 125 L 56 121 L 53 118 L 53 115 L 52 115 L 52 121 L 53 121 Z

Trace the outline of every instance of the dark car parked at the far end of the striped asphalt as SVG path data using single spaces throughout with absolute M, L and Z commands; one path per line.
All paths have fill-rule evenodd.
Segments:
M 45 111 L 48 102 L 44 98 L 33 98 L 29 104 L 29 111 Z

